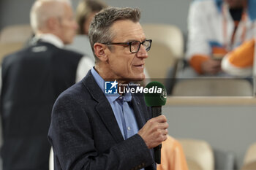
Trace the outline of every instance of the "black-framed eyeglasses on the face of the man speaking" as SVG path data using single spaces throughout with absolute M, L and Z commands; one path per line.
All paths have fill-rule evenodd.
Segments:
M 138 53 L 140 50 L 140 45 L 143 45 L 146 48 L 146 51 L 149 51 L 151 48 L 152 39 L 146 39 L 143 42 L 132 41 L 132 42 L 104 42 L 103 45 L 129 45 L 129 51 L 131 53 Z

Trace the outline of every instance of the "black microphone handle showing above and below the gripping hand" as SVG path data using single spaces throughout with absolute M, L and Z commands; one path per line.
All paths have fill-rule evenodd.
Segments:
M 152 117 L 157 117 L 162 115 L 162 107 L 151 107 Z M 161 164 L 161 148 L 162 144 L 159 144 L 157 147 L 154 147 L 154 161 L 158 164 Z

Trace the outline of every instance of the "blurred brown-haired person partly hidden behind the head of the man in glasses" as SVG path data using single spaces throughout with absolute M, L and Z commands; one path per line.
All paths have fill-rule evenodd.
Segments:
M 89 42 L 89 26 L 91 20 L 94 18 L 94 15 L 106 7 L 108 7 L 107 4 L 98 0 L 82 0 L 79 2 L 76 10 L 78 35 L 75 36 L 74 42 L 67 46 L 68 49 L 76 50 L 80 53 L 86 54 L 93 61 L 95 60 Z

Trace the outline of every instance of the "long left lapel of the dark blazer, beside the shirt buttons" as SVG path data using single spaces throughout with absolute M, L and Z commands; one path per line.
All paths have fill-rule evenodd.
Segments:
M 82 81 L 83 84 L 86 85 L 86 88 L 88 88 L 89 93 L 91 93 L 91 96 L 98 102 L 95 109 L 99 114 L 99 117 L 101 117 L 102 122 L 105 124 L 110 134 L 113 136 L 117 143 L 124 141 L 118 123 L 116 122 L 116 117 L 108 102 L 108 99 L 106 98 L 102 90 L 99 88 L 97 82 L 94 80 L 91 71 L 89 71 L 89 73 Z

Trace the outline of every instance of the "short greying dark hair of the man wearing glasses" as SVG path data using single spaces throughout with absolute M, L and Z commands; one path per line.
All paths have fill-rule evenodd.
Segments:
M 119 8 L 108 7 L 94 16 L 89 28 L 89 39 L 91 43 L 91 50 L 94 53 L 94 44 L 96 42 L 111 42 L 115 36 L 110 30 L 110 27 L 116 20 L 132 20 L 134 23 L 140 20 L 140 9 L 138 8 Z M 94 53 L 95 61 L 98 61 Z

